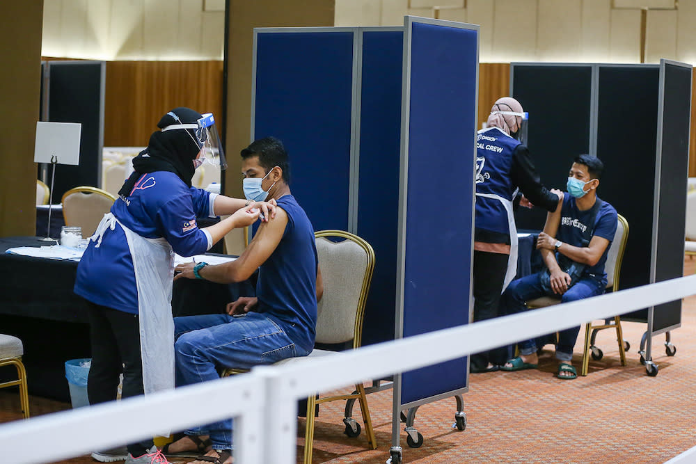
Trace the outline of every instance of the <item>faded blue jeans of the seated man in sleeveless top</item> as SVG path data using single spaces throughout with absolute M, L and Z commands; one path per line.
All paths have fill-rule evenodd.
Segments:
M 177 386 L 219 378 L 218 368 L 251 369 L 309 354 L 295 346 L 282 324 L 258 312 L 175 317 L 174 337 Z M 185 433 L 210 435 L 214 449 L 232 449 L 232 419 Z

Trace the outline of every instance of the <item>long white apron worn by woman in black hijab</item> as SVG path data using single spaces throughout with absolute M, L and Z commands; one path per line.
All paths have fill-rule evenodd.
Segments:
M 143 388 L 145 394 L 174 388 L 174 319 L 172 285 L 174 252 L 166 239 L 146 239 L 104 214 L 91 237 L 99 248 L 106 229 L 116 224 L 125 232 L 138 289 Z

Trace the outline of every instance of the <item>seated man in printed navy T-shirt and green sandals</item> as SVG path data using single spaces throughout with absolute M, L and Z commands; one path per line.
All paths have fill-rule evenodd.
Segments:
M 503 294 L 500 312 L 526 311 L 527 301 L 544 295 L 560 296 L 565 303 L 604 293 L 607 285 L 604 264 L 616 233 L 617 213 L 597 196 L 602 170 L 599 158 L 581 154 L 575 159 L 568 177 L 568 193 L 560 200 L 561 207 L 548 213 L 544 232 L 537 239 L 547 269 L 512 281 Z M 558 378 L 578 376 L 571 360 L 579 331 L 580 327 L 575 327 L 559 333 Z M 501 369 L 519 371 L 537 367 L 535 340 L 521 342 L 519 349 L 520 355 Z

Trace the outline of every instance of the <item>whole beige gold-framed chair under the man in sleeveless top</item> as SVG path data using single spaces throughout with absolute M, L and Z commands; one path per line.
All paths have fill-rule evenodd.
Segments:
M 333 241 L 342 239 L 342 241 Z M 349 232 L 340 230 L 322 230 L 315 232 L 319 267 L 322 270 L 324 295 L 319 301 L 317 317 L 316 342 L 320 344 L 341 344 L 351 342 L 353 348 L 361 346 L 363 334 L 363 314 L 367 292 L 370 290 L 372 271 L 374 269 L 374 250 L 370 243 Z M 315 349 L 309 357 L 333 355 L 340 362 L 340 353 Z M 305 357 L 288 358 L 276 364 L 303 362 Z M 223 375 L 239 374 L 240 369 L 226 369 Z M 377 448 L 377 440 L 372 429 L 370 410 L 367 408 L 365 387 L 362 383 L 355 385 L 355 392 L 317 399 L 315 395 L 307 399 L 307 424 L 305 428 L 304 463 L 312 463 L 312 446 L 314 440 L 315 406 L 329 401 L 357 399 L 360 402 L 365 435 L 372 449 Z M 360 433 L 360 424 L 352 417 L 343 419 L 345 431 L 349 436 Z M 356 429 L 353 429 L 353 425 Z

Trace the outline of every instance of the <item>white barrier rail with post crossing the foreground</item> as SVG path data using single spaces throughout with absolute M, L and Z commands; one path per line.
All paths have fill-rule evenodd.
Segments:
M 13 464 L 46 463 L 235 416 L 235 463 L 294 464 L 297 399 L 692 294 L 696 275 L 566 303 L 562 310 L 547 307 L 336 356 L 256 367 L 243 376 L 11 422 L 0 426 L 0 449 Z

